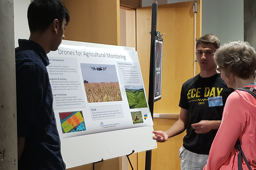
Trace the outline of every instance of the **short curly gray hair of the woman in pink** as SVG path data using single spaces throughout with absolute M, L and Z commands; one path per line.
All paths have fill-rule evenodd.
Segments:
M 255 74 L 256 53 L 248 42 L 235 41 L 222 45 L 216 50 L 214 61 L 219 69 L 241 79 Z

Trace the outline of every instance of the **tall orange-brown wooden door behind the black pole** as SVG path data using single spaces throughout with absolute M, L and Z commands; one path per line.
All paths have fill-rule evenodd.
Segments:
M 183 82 L 194 76 L 194 12 L 195 1 L 158 6 L 157 31 L 163 35 L 162 99 L 154 103 L 154 113 L 179 113 Z M 201 36 L 201 1 L 197 0 L 197 32 Z M 148 95 L 151 31 L 151 7 L 137 8 L 137 52 Z M 196 64 L 196 74 L 199 66 Z M 167 130 L 177 119 L 154 119 L 155 130 Z M 152 150 L 151 169 L 180 169 L 178 150 L 186 132 L 158 143 Z M 138 170 L 145 169 L 145 153 L 138 154 Z

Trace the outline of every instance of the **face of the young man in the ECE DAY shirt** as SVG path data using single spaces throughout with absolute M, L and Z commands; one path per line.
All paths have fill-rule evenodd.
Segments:
M 197 47 L 196 57 L 201 71 L 212 71 L 216 68 L 213 56 L 216 51 L 215 46 L 212 43 L 201 43 Z

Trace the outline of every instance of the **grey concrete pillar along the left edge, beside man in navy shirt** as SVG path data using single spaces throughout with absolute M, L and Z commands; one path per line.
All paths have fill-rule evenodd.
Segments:
M 13 0 L 0 0 L 0 170 L 17 170 Z

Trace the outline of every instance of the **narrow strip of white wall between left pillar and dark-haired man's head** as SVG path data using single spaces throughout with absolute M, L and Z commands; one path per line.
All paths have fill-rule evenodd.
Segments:
M 18 39 L 29 39 L 29 25 L 27 10 L 30 0 L 14 0 L 14 28 L 15 28 L 15 47 L 18 46 Z

